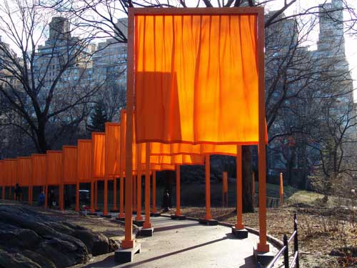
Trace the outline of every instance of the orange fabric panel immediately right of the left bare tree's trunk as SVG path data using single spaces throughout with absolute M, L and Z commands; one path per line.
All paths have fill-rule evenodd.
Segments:
M 59 185 L 63 177 L 63 159 L 61 151 L 47 151 L 47 185 Z

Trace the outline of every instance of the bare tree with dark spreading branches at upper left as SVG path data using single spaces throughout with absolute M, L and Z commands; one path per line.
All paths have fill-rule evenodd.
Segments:
M 90 64 L 93 31 L 73 37 L 76 29 L 70 29 L 69 19 L 56 17 L 49 24 L 54 13 L 36 3 L 1 0 L 0 36 L 11 43 L 0 41 L 0 96 L 7 105 L 1 124 L 21 129 L 38 152 L 46 152 L 86 119 L 101 83 L 82 79 Z

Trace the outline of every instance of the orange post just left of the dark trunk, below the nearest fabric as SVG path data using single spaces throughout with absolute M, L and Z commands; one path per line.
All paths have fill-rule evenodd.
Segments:
M 237 145 L 237 156 L 236 156 L 236 172 L 237 172 L 237 196 L 236 196 L 236 206 L 237 206 L 237 222 L 236 229 L 244 229 L 243 225 L 243 193 L 242 193 L 242 147 Z

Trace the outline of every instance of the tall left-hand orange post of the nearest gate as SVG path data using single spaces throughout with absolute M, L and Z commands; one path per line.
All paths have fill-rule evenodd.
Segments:
M 133 111 L 134 111 L 134 14 L 128 14 L 128 51 L 127 51 L 127 77 L 126 79 L 126 184 L 125 184 L 125 238 L 121 242 L 124 249 L 133 248 Z

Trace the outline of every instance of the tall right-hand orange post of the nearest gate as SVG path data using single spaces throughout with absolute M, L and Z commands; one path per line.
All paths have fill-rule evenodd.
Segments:
M 265 112 L 265 77 L 264 77 L 264 13 L 258 13 L 258 114 L 259 114 L 259 142 L 258 142 L 258 191 L 259 191 L 259 242 L 258 252 L 268 252 L 266 241 L 266 112 Z

